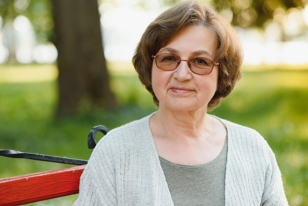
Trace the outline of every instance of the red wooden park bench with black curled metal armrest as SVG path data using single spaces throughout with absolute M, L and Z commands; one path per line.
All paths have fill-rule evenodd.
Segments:
M 108 129 L 102 125 L 92 128 L 88 135 L 88 147 L 91 149 L 96 145 L 95 135 L 98 131 L 106 135 Z M 18 206 L 77 194 L 80 175 L 88 163 L 86 160 L 24 153 L 16 150 L 0 150 L 0 156 L 80 165 L 0 179 L 0 206 Z

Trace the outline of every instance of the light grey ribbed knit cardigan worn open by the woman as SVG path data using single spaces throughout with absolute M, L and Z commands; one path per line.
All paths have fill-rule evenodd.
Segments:
M 149 119 L 111 130 L 94 148 L 74 206 L 173 206 Z M 226 206 L 287 206 L 275 155 L 256 131 L 227 128 Z M 189 188 L 187 188 L 189 189 Z

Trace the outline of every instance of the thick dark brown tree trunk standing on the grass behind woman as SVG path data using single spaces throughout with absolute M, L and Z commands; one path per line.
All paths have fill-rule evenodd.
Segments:
M 103 53 L 97 0 L 52 0 L 58 49 L 57 114 L 80 106 L 114 107 Z

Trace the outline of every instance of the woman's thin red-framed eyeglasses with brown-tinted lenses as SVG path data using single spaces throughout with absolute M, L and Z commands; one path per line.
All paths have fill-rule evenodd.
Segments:
M 219 65 L 218 62 L 214 63 L 212 60 L 204 57 L 192 57 L 188 60 L 182 60 L 179 56 L 169 53 L 158 53 L 152 55 L 152 58 L 155 59 L 155 64 L 158 69 L 172 71 L 179 67 L 181 61 L 185 61 L 193 73 L 200 75 L 210 74 L 214 66 Z

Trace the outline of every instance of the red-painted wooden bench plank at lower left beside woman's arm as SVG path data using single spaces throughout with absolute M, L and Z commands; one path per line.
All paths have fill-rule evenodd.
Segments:
M 77 194 L 86 166 L 0 179 L 0 206 L 18 206 Z

